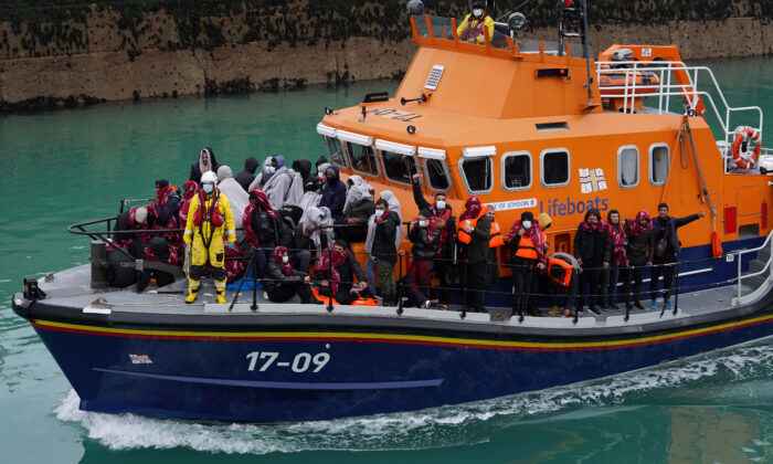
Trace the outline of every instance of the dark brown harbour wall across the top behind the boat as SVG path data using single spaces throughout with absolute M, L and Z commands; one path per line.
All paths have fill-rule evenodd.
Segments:
M 59 3 L 0 0 L 0 112 L 400 78 L 416 49 L 403 0 Z M 467 10 L 424 3 L 438 15 Z M 773 0 L 589 6 L 594 53 L 613 43 L 673 43 L 685 60 L 773 53 Z M 522 11 L 530 38 L 555 40 L 555 1 Z

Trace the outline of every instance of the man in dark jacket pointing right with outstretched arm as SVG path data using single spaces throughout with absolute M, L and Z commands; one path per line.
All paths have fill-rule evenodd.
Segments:
M 700 211 L 686 218 L 671 218 L 668 215 L 668 204 L 666 203 L 658 204 L 657 212 L 658 217 L 653 221 L 653 235 L 650 239 L 653 241 L 650 250 L 654 250 L 655 257 L 653 259 L 652 280 L 649 281 L 649 296 L 653 298 L 649 308 L 657 309 L 657 281 L 663 274 L 663 303 L 668 309 L 673 309 L 674 305 L 668 298 L 671 293 L 671 284 L 674 284 L 676 255 L 681 250 L 677 229 L 703 218 L 706 213 Z M 666 246 L 661 252 L 658 252 L 657 244 L 660 240 L 665 240 Z

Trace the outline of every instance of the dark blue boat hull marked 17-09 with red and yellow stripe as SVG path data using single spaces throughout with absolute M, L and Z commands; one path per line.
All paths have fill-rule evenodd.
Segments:
M 229 327 L 178 319 L 186 330 L 33 326 L 83 410 L 285 422 L 464 403 L 645 368 L 773 335 L 770 303 L 689 325 L 664 320 L 653 330 L 589 329 L 595 336 L 576 328 L 462 331 L 403 319 L 368 327 L 336 315 L 260 315 Z

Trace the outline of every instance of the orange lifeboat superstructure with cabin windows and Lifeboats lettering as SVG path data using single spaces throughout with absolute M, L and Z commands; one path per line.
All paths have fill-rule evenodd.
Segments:
M 447 192 L 456 214 L 470 196 L 495 204 L 505 230 L 525 210 L 548 213 L 552 251 L 571 252 L 589 208 L 633 219 L 661 201 L 671 215 L 706 212 L 680 232 L 684 247 L 710 244 L 713 230 L 722 242 L 770 232 L 770 178 L 728 161 L 731 116 L 759 108 L 707 103 L 697 84 L 706 68 L 686 66 L 676 46 L 614 45 L 596 63 L 574 56 L 579 45 L 460 42 L 453 19 L 413 17 L 412 27 L 419 50 L 395 95 L 330 112 L 317 127 L 332 161 L 394 191 L 404 219 L 416 213 L 409 179 L 420 172 L 424 192 Z M 607 61 L 624 46 L 636 61 L 615 68 Z M 610 72 L 620 86 L 600 87 Z M 625 77 L 645 72 L 654 78 L 638 91 Z M 706 119 L 714 115 L 718 135 Z

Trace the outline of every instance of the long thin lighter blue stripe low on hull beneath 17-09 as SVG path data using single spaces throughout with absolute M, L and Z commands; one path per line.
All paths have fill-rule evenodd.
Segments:
M 407 380 L 402 382 L 343 382 L 343 383 L 315 383 L 315 382 L 265 382 L 255 380 L 225 380 L 207 379 L 202 377 L 163 376 L 160 373 L 131 372 L 128 370 L 94 368 L 99 372 L 116 373 L 119 376 L 145 377 L 148 379 L 171 380 L 176 382 L 205 383 L 213 386 L 247 387 L 247 388 L 274 388 L 284 390 L 393 390 L 401 388 L 440 387 L 443 379 Z

